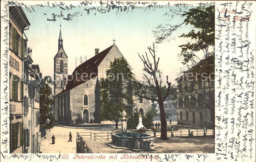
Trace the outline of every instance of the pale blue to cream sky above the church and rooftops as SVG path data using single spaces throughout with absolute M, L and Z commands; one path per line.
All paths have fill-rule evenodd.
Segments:
M 68 55 L 68 74 L 71 74 L 75 65 L 75 57 L 87 57 L 87 59 L 95 55 L 96 48 L 99 52 L 113 45 L 113 39 L 118 49 L 124 55 L 133 69 L 138 79 L 142 79 L 143 63 L 140 61 L 139 54 L 148 52 L 147 47 L 153 46 L 155 41 L 152 30 L 159 24 L 168 22 L 165 13 L 169 12 L 169 8 L 157 8 L 144 11 L 144 9 L 134 9 L 127 12 L 116 12 L 110 10 L 108 13 L 96 12 L 87 15 L 84 11 L 85 7 L 72 8 L 64 11 L 60 8 L 34 7 L 34 11 L 27 11 L 23 7 L 27 19 L 30 22 L 29 30 L 25 30 L 28 38 L 28 47 L 32 52 L 33 64 L 39 64 L 40 71 L 43 76 L 53 77 L 53 58 L 58 50 L 58 39 L 60 32 L 63 38 L 63 47 Z M 189 9 L 189 8 L 188 8 Z M 63 20 L 57 18 L 56 21 L 48 21 L 52 19 L 52 13 L 62 14 L 67 18 L 68 13 L 78 13 L 79 16 L 72 20 Z M 80 16 L 82 14 L 82 16 Z M 180 16 L 176 16 L 170 24 L 179 24 L 184 20 Z M 182 33 L 191 30 L 190 26 L 184 26 L 174 32 L 174 40 L 163 42 L 155 45 L 156 55 L 160 57 L 159 69 L 163 72 L 163 78 L 169 76 L 169 81 L 175 83 L 175 78 L 180 68 L 184 67 L 178 60 L 178 54 L 186 39 L 178 38 Z

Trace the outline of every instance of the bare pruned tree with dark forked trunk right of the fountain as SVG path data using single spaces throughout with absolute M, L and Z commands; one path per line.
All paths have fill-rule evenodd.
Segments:
M 166 85 L 163 85 L 161 78 L 161 72 L 158 69 L 159 57 L 155 55 L 155 47 L 153 49 L 148 47 L 150 55 L 146 52 L 145 55 L 139 55 L 144 65 L 143 81 L 136 81 L 133 84 L 134 95 L 142 97 L 147 100 L 158 102 L 160 110 L 161 120 L 161 137 L 162 140 L 168 140 L 166 131 L 166 116 L 163 101 L 169 96 L 170 89 L 172 88 L 171 83 L 168 82 L 168 76 L 166 76 Z M 150 61 L 151 59 L 153 61 Z

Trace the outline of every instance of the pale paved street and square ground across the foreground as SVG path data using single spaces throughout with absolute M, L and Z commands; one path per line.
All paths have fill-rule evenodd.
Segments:
M 76 153 L 76 132 L 113 132 L 115 128 L 64 128 L 54 126 L 46 139 L 41 139 L 40 149 L 42 153 Z M 68 142 L 69 132 L 72 134 L 72 141 Z M 52 143 L 52 136 L 55 136 L 55 144 Z M 111 140 L 85 140 L 93 153 L 129 153 L 131 150 L 114 149 L 106 145 Z M 169 138 L 167 141 L 155 139 L 159 147 L 153 153 L 214 153 L 213 138 Z M 101 148 L 100 150 L 98 148 Z

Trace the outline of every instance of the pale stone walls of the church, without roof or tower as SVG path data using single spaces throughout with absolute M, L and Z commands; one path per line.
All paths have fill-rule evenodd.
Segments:
M 106 51 L 108 50 L 108 51 Z M 99 79 L 106 78 L 106 69 L 109 68 L 110 61 L 114 61 L 115 58 L 121 58 L 123 55 L 118 50 L 116 45 L 110 46 L 108 49 L 103 50 L 101 53 L 96 53 L 99 55 L 94 61 L 86 64 L 82 64 L 84 69 L 86 67 L 97 66 L 95 72 L 97 74 L 90 78 L 88 81 L 82 82 L 82 84 L 77 84 L 70 89 L 64 89 L 61 93 L 54 96 L 54 109 L 58 112 L 58 121 L 63 124 L 74 124 L 74 123 L 88 123 L 91 120 L 94 123 L 101 123 L 100 121 L 100 90 L 99 90 Z M 105 53 L 104 53 L 105 52 Z M 104 55 L 104 57 L 103 57 Z M 97 61 L 101 61 L 97 64 Z M 85 62 L 86 63 L 86 62 Z M 80 68 L 80 67 L 79 67 Z M 131 66 L 129 66 L 131 68 Z M 90 69 L 86 69 L 87 72 Z M 76 71 L 76 70 L 75 70 Z M 91 72 L 94 72 L 91 71 Z M 90 75 L 90 74 L 88 74 Z M 71 81 L 72 82 L 72 81 Z M 72 84 L 69 82 L 70 84 Z M 66 88 L 69 88 L 67 85 Z M 84 96 L 86 95 L 88 103 L 84 104 Z M 143 99 L 140 103 L 139 99 L 133 96 L 133 105 L 131 111 L 141 111 L 146 113 L 148 108 L 151 108 L 151 103 Z M 128 106 L 128 105 L 127 105 Z

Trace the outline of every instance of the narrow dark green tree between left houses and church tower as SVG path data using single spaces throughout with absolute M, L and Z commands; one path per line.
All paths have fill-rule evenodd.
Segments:
M 53 128 L 54 117 L 51 113 L 50 105 L 52 105 L 53 100 L 51 99 L 52 88 L 52 79 L 50 76 L 45 76 L 42 80 L 44 82 L 44 87 L 40 89 L 40 127 L 46 129 Z M 49 119 L 50 123 L 46 124 L 46 120 Z

